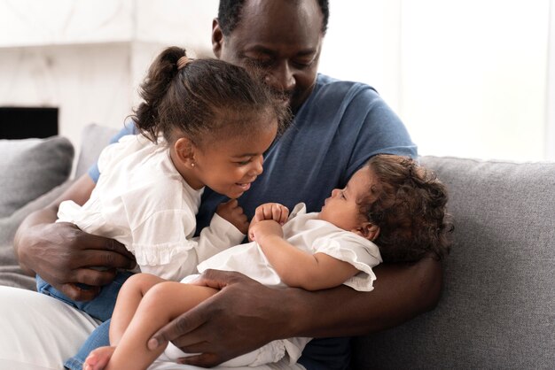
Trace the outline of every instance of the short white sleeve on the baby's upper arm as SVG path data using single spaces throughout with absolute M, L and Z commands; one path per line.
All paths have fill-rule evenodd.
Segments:
M 317 238 L 314 242 L 317 253 L 325 253 L 332 258 L 347 262 L 359 270 L 358 274 L 350 277 L 343 285 L 358 291 L 374 289 L 373 281 L 376 275 L 372 267 L 381 262 L 378 246 L 354 233 L 340 233 L 334 236 Z

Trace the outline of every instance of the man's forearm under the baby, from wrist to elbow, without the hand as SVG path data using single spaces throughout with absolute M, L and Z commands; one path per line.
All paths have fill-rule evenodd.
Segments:
M 424 258 L 412 266 L 380 265 L 371 292 L 346 286 L 309 292 L 288 289 L 290 336 L 349 336 L 393 328 L 434 308 L 442 287 L 441 263 Z M 291 308 L 294 307 L 294 308 Z

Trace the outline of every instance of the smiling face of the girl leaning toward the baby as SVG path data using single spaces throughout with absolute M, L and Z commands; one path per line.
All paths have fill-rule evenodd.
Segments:
M 205 144 L 206 148 L 195 150 L 197 179 L 226 197 L 241 197 L 262 173 L 262 154 L 270 148 L 276 133 L 277 123 L 268 129 Z

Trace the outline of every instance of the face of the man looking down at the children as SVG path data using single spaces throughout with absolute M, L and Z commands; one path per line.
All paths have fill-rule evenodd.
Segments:
M 238 26 L 223 36 L 215 20 L 217 58 L 258 67 L 294 112 L 309 97 L 317 76 L 323 16 L 315 0 L 247 0 Z

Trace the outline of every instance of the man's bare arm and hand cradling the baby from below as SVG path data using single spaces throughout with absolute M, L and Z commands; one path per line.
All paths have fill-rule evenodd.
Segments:
M 371 292 L 345 286 L 309 292 L 270 289 L 243 274 L 207 270 L 198 283 L 215 296 L 161 328 L 153 338 L 185 352 L 186 364 L 215 366 L 272 340 L 293 336 L 348 336 L 393 328 L 437 304 L 441 263 L 379 265 Z

